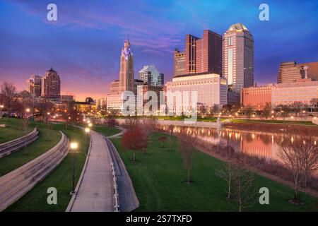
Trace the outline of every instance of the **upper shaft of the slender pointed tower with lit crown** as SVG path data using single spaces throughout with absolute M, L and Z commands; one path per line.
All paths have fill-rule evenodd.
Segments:
M 119 92 L 134 90 L 134 58 L 129 40 L 125 40 L 120 56 Z

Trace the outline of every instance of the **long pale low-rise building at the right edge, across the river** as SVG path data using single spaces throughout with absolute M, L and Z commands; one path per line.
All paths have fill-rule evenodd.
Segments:
M 272 107 L 279 105 L 311 105 L 311 100 L 318 98 L 318 81 L 312 79 L 298 79 L 293 83 L 279 83 L 273 86 L 271 94 Z

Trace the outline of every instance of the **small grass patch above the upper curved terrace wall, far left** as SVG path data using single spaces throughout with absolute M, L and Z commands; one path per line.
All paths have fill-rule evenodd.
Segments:
M 24 136 L 22 122 L 18 119 L 9 119 L 6 121 L 6 118 L 0 119 L 0 124 L 5 124 L 6 127 L 0 127 L 0 143 L 5 143 L 7 141 L 12 141 L 20 136 Z M 30 126 L 29 131 L 33 131 L 33 127 Z

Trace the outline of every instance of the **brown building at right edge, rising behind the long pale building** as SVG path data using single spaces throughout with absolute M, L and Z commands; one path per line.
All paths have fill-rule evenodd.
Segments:
M 283 62 L 278 69 L 277 83 L 294 83 L 301 78 L 318 81 L 318 62 L 297 64 L 295 61 Z

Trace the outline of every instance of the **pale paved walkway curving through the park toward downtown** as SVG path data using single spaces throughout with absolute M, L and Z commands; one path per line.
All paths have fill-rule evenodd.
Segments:
M 110 150 L 100 133 L 90 131 L 91 149 L 86 171 L 71 212 L 113 212 Z

